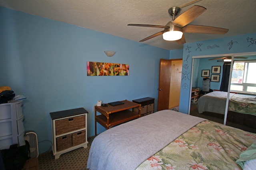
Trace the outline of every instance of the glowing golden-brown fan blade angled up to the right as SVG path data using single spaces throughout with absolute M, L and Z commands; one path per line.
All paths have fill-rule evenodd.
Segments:
M 196 19 L 198 16 L 200 16 L 205 10 L 206 8 L 202 6 L 198 6 L 198 5 L 192 6 L 191 8 L 189 8 L 188 10 L 180 14 L 180 16 L 178 16 L 172 22 L 172 24 L 177 25 L 179 27 L 184 27 L 185 25 L 187 25 L 188 23 Z

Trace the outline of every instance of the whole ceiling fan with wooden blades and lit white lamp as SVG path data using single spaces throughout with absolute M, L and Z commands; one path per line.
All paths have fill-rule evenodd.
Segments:
M 139 26 L 139 27 L 155 27 L 155 28 L 164 28 L 163 31 L 150 35 L 146 37 L 142 41 L 146 41 L 148 39 L 154 38 L 158 35 L 163 35 L 163 39 L 167 41 L 176 41 L 178 44 L 186 43 L 185 37 L 183 32 L 186 33 L 206 33 L 206 34 L 225 34 L 228 32 L 228 29 L 225 28 L 218 28 L 218 27 L 210 27 L 210 26 L 203 26 L 203 25 L 187 25 L 188 23 L 192 22 L 198 16 L 200 16 L 206 8 L 202 6 L 192 6 L 180 16 L 175 19 L 180 13 L 181 8 L 179 7 L 172 7 L 168 10 L 170 16 L 172 16 L 172 21 L 169 21 L 165 26 L 163 25 L 146 25 L 146 24 L 128 24 L 129 26 Z M 178 35 L 178 37 L 176 37 Z

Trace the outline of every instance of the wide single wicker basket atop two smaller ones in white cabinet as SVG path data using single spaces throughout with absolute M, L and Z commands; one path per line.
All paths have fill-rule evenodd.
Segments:
M 85 115 L 55 121 L 56 135 L 72 132 L 85 127 Z

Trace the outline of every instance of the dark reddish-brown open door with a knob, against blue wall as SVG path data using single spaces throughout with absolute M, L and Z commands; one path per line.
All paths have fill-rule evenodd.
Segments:
M 171 60 L 160 59 L 159 85 L 158 85 L 158 107 L 157 110 L 169 108 Z

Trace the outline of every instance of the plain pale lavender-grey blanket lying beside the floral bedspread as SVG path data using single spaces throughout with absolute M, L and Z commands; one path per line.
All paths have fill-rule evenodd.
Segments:
M 92 142 L 87 168 L 134 170 L 204 120 L 172 110 L 162 110 L 108 129 Z

